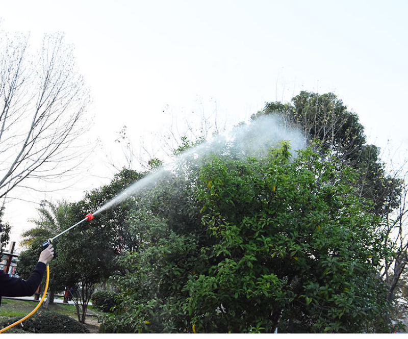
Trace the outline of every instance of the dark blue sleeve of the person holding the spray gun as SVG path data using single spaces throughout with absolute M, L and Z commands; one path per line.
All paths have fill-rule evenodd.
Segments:
M 0 271 L 0 296 L 3 297 L 28 297 L 32 296 L 38 288 L 44 275 L 46 265 L 37 263 L 33 273 L 27 280 L 11 277 Z

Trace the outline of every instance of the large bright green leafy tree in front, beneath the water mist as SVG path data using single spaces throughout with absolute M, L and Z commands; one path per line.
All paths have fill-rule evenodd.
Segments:
M 217 243 L 213 265 L 186 284 L 195 330 L 388 331 L 378 272 L 390 253 L 355 173 L 311 149 L 282 154 L 201 171 L 202 221 Z

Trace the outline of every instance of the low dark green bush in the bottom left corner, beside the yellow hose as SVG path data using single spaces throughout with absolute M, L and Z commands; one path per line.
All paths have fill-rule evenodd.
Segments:
M 21 317 L 13 317 L 2 321 L 0 322 L 0 328 L 4 328 L 20 319 Z M 89 333 L 89 330 L 85 325 L 68 316 L 39 311 L 5 333 Z

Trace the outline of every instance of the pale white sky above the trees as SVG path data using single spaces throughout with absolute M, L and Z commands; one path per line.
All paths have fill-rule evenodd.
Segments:
M 406 1 L 0 0 L 6 31 L 31 32 L 33 43 L 65 32 L 93 97 L 89 137 L 108 153 L 123 125 L 137 148 L 143 136 L 167 131 L 171 116 L 216 107 L 234 123 L 307 90 L 334 92 L 369 142 L 385 149 L 390 139 L 404 157 L 407 15 Z M 31 198 L 80 199 L 107 183 L 96 177 L 112 175 L 105 169 L 106 158 L 94 157 L 92 178 L 77 191 Z M 11 240 L 30 227 L 35 208 L 6 206 Z

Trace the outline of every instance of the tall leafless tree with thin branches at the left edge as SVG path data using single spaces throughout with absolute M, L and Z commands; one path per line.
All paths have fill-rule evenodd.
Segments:
M 65 177 L 82 161 L 75 140 L 88 103 L 63 34 L 44 36 L 32 54 L 29 35 L 0 31 L 0 197 Z

